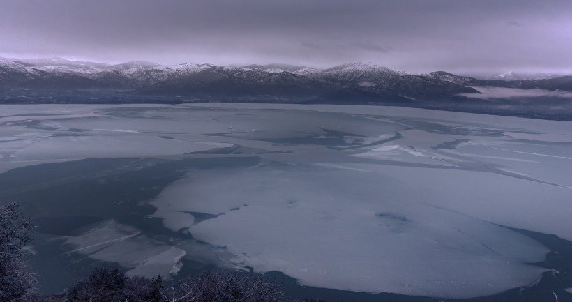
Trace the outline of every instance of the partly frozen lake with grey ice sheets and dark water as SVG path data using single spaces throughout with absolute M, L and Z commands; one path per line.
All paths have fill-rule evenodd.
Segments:
M 38 226 L 45 291 L 112 263 L 468 298 L 552 271 L 541 263 L 555 251 L 516 229 L 572 241 L 570 122 L 352 105 L 1 109 L 0 200 Z

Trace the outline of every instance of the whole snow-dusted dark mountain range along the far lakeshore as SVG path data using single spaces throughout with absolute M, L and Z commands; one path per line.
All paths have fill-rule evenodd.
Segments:
M 539 91 L 527 96 L 506 89 Z M 0 59 L 1 103 L 363 103 L 474 111 L 485 105 L 497 110 L 515 107 L 517 101 L 522 107 L 522 102 L 542 97 L 534 106 L 557 108 L 565 103 L 568 110 L 572 93 L 566 91 L 572 92 L 572 76 L 505 73 L 483 80 L 444 71 L 418 75 L 363 62 L 316 69 L 278 63 L 160 66 L 146 61 L 111 65 Z

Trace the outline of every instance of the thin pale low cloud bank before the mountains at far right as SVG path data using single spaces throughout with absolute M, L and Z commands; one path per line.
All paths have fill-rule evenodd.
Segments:
M 539 98 L 539 97 L 556 97 L 556 98 L 572 98 L 572 92 L 562 90 L 544 90 L 544 89 L 518 89 L 504 87 L 472 87 L 479 93 L 459 93 L 459 96 L 468 98 Z

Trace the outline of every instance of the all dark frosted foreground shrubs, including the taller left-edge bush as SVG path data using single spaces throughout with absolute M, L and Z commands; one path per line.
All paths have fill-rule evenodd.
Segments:
M 278 283 L 263 275 L 205 272 L 164 282 L 160 276 L 128 276 L 119 269 L 93 269 L 65 292 L 36 294 L 36 275 L 29 272 L 24 247 L 33 227 L 17 204 L 0 207 L 0 302 L 280 302 L 286 296 Z M 304 300 L 315 301 L 317 300 Z

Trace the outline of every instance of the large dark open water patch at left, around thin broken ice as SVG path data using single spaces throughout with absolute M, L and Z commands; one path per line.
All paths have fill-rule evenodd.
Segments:
M 29 257 L 31 269 L 39 275 L 39 291 L 54 293 L 89 275 L 93 267 L 116 265 L 67 253 L 61 247 L 65 241 L 61 236 L 75 236 L 113 219 L 167 246 L 173 241 L 190 240 L 192 236 L 188 234 L 163 227 L 162 220 L 148 218 L 155 208 L 146 202 L 190 169 L 248 167 L 257 163 L 257 157 L 240 157 L 85 159 L 32 165 L 0 174 L 0 204 L 19 202 L 24 215 L 38 225 L 33 247 L 38 253 Z

